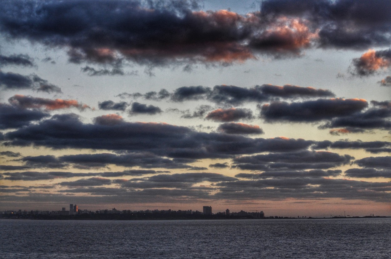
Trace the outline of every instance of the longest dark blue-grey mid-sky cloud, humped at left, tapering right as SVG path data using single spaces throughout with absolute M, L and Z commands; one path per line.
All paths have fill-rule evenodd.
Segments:
M 303 139 L 264 139 L 203 133 L 186 127 L 152 122 L 84 124 L 75 114 L 54 115 L 38 124 L 7 132 L 4 140 L 5 146 L 126 150 L 195 159 L 302 150 L 316 143 Z

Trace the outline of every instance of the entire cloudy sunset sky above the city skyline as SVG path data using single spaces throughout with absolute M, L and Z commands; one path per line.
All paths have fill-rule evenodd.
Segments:
M 0 210 L 391 215 L 391 1 L 0 9 Z

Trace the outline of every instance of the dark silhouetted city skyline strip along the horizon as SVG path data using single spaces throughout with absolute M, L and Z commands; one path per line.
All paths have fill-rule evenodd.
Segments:
M 264 211 L 239 211 L 230 212 L 230 209 L 226 209 L 223 212 L 213 213 L 212 206 L 203 206 L 202 211 L 198 210 L 117 210 L 112 209 L 98 209 L 91 211 L 87 209 L 80 209 L 76 204 L 69 204 L 69 209 L 62 207 L 57 211 L 42 211 L 42 210 L 22 210 L 17 211 L 7 210 L 0 211 L 1 218 L 25 218 L 25 219 L 81 219 L 81 220 L 138 220 L 138 219 L 281 219 L 281 218 L 296 218 L 296 217 L 285 217 L 285 216 L 265 216 Z M 384 217 L 375 216 L 370 214 L 364 217 Z M 307 216 L 297 216 L 297 218 L 307 218 Z M 312 217 L 308 217 L 312 218 Z M 322 217 L 326 218 L 326 217 Z M 327 218 L 359 218 L 359 216 L 338 215 Z

